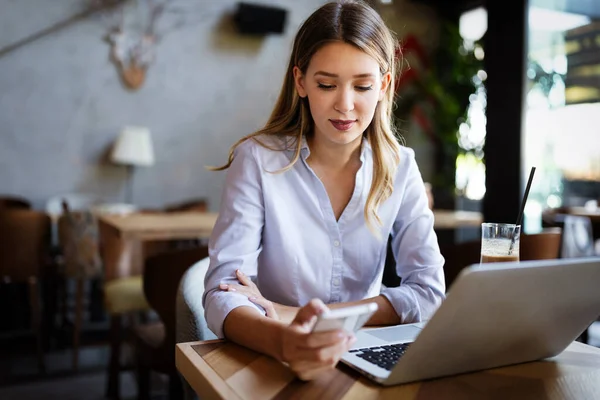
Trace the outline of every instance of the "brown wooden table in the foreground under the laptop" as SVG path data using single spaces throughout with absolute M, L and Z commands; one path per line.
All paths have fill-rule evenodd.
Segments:
M 180 343 L 177 369 L 201 399 L 597 399 L 600 349 L 573 342 L 548 360 L 384 388 L 345 365 L 313 382 L 231 342 Z

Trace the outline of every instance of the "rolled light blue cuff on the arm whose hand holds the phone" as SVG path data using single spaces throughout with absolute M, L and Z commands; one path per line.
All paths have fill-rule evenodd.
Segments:
M 224 292 L 221 290 L 214 290 L 212 293 L 207 294 L 206 304 L 204 306 L 204 316 L 206 318 L 206 324 L 208 328 L 213 331 L 218 338 L 225 338 L 223 333 L 223 323 L 227 315 L 238 307 L 252 307 L 262 315 L 266 315 L 265 310 L 252 303 L 246 296 L 239 293 Z

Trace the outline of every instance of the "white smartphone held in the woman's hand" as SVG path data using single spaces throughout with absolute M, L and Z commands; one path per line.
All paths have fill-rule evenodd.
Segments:
M 358 331 L 377 311 L 377 303 L 360 304 L 329 310 L 319 315 L 313 332 L 325 332 L 343 329 L 346 332 Z

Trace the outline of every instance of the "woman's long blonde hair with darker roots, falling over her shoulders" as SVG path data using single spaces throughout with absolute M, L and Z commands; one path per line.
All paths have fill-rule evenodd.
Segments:
M 229 168 L 235 149 L 248 139 L 266 148 L 281 150 L 261 142 L 258 138 L 261 135 L 292 139 L 288 150 L 293 150 L 294 156 L 290 164 L 278 172 L 293 167 L 300 157 L 302 137 L 311 135 L 314 126 L 308 99 L 301 98 L 296 91 L 293 69 L 297 66 L 306 74 L 312 56 L 331 42 L 348 43 L 364 51 L 377 60 L 382 75 L 390 72 L 392 77 L 383 100 L 375 108 L 373 120 L 365 130 L 373 151 L 373 180 L 364 215 L 369 228 L 373 230 L 373 220 L 381 226 L 377 210 L 392 194 L 394 175 L 400 161 L 400 145 L 392 126 L 396 40 L 379 14 L 362 1 L 327 3 L 308 17 L 296 34 L 283 87 L 268 122 L 264 128 L 238 140 L 229 151 L 227 164 L 213 170 Z

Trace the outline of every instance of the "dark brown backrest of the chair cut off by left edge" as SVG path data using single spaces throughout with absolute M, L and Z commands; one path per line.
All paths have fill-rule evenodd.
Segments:
M 26 282 L 48 261 L 50 217 L 34 210 L 0 212 L 0 279 Z

